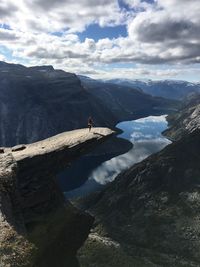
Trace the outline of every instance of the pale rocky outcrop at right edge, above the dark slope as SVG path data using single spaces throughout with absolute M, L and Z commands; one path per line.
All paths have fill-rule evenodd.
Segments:
M 167 117 L 170 128 L 164 134 L 172 140 L 200 129 L 200 95 L 194 94 L 185 99 L 182 108 Z

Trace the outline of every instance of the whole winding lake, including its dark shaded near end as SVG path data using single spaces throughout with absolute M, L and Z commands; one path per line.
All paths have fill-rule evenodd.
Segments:
M 120 172 L 162 150 L 171 143 L 162 135 L 167 127 L 166 115 L 149 116 L 119 123 L 117 128 L 123 133 L 118 136 L 129 140 L 133 144 L 132 149 L 125 154 L 97 164 L 95 168 L 92 167 L 94 166 L 92 159 L 88 160 L 87 157 L 72 164 L 72 168 L 59 177 L 65 196 L 70 199 L 98 190 L 113 181 Z M 81 177 L 86 177 L 86 179 L 81 180 Z

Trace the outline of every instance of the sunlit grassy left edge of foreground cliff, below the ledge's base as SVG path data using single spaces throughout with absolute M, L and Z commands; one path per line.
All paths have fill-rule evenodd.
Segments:
M 26 266 L 33 246 L 26 239 L 17 186 L 17 164 L 11 154 L 0 156 L 0 266 Z M 29 258 L 29 259 L 28 259 Z

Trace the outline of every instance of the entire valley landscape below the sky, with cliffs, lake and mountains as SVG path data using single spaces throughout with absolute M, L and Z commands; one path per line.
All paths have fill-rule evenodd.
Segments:
M 0 77 L 3 267 L 200 265 L 198 90 L 4 62 Z

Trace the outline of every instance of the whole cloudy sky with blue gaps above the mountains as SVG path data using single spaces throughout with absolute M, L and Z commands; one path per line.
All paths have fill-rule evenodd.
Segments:
M 199 0 L 1 0 L 0 60 L 101 79 L 200 81 Z

